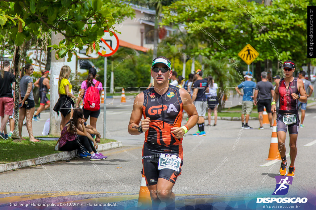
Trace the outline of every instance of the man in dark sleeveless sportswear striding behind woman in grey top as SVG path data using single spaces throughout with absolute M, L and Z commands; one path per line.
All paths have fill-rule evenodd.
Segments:
M 34 86 L 38 87 L 40 92 L 40 107 L 37 109 L 35 115 L 33 116 L 33 120 L 36 122 L 39 121 L 37 117 L 40 118 L 40 112 L 46 110 L 51 104 L 51 102 L 46 96 L 49 88 L 51 88 L 51 86 L 49 85 L 49 79 L 47 78 L 48 73 L 49 71 L 43 70 L 42 77 L 36 80 L 36 82 L 34 82 Z

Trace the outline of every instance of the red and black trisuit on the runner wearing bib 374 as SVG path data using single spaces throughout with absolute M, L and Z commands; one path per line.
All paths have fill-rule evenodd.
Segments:
M 292 93 L 299 94 L 297 87 L 297 78 L 294 77 L 293 81 L 286 87 L 285 80 L 282 78 L 279 82 L 278 92 L 280 96 L 279 112 L 276 117 L 276 132 L 289 129 L 289 134 L 297 134 L 300 125 L 300 118 L 298 115 L 298 99 L 293 99 Z M 284 117 L 295 115 L 295 122 L 293 124 L 285 124 Z

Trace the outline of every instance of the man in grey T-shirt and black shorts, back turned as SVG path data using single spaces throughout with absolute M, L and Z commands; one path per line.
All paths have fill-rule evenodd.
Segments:
M 258 113 L 259 113 L 259 122 L 260 122 L 260 130 L 263 128 L 263 111 L 264 107 L 268 112 L 269 122 L 270 122 L 270 129 L 273 128 L 272 122 L 272 112 L 271 112 L 271 95 L 274 94 L 273 85 L 271 82 L 267 80 L 268 73 L 263 71 L 261 72 L 261 81 L 257 82 L 257 86 L 255 89 L 255 95 L 253 101 L 255 102 L 254 105 L 258 103 Z M 258 98 L 258 101 L 257 101 Z

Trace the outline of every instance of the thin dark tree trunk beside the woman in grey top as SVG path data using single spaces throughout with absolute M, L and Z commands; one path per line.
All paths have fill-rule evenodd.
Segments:
M 19 71 L 19 60 L 20 60 L 20 54 L 19 54 L 20 47 L 15 47 L 14 52 L 14 64 L 13 69 L 15 73 L 15 92 L 14 92 L 14 131 L 12 134 L 13 140 L 21 141 L 20 135 L 19 135 L 19 101 L 20 101 L 20 71 Z

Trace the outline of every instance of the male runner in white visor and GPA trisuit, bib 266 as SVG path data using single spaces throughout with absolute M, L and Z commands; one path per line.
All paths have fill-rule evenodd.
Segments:
M 198 115 L 190 94 L 184 88 L 168 84 L 172 75 L 169 59 L 164 56 L 155 58 L 150 74 L 154 78 L 154 87 L 136 96 L 128 132 L 132 135 L 145 132 L 142 174 L 153 208 L 157 209 L 161 202 L 165 202 L 166 207 L 174 209 L 172 188 L 181 174 L 182 137 L 196 125 Z M 181 127 L 183 110 L 190 117 Z M 141 121 L 142 116 L 144 120 Z

